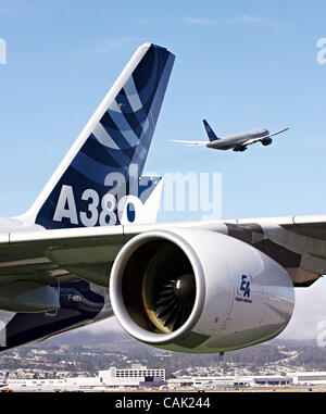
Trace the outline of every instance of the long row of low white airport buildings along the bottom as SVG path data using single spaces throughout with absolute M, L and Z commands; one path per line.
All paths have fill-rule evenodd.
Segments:
M 130 368 L 111 367 L 100 371 L 97 377 L 72 377 L 62 379 L 9 379 L 13 391 L 104 391 L 116 389 L 204 389 L 241 387 L 296 387 L 326 386 L 326 372 L 287 373 L 286 375 L 251 376 L 183 376 L 165 379 L 165 369 L 148 368 L 133 364 Z

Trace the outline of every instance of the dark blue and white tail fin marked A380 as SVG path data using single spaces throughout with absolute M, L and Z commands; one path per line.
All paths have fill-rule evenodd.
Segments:
M 141 174 L 174 59 L 152 43 L 137 49 L 26 221 L 46 228 L 155 221 L 160 178 Z

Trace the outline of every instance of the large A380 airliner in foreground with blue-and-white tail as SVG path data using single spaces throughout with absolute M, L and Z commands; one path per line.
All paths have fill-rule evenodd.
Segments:
M 0 218 L 1 351 L 113 315 L 162 349 L 250 347 L 326 274 L 325 215 L 155 222 L 143 165 L 174 60 L 140 46 L 30 209 Z

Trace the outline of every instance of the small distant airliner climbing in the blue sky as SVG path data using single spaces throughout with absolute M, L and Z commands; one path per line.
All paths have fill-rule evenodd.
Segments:
M 234 135 L 228 135 L 226 137 L 217 137 L 214 130 L 211 128 L 206 120 L 203 120 L 203 124 L 205 127 L 205 131 L 209 137 L 209 141 L 186 141 L 172 139 L 172 142 L 184 143 L 187 147 L 208 147 L 214 150 L 230 150 L 233 149 L 236 152 L 243 152 L 247 150 L 248 146 L 251 146 L 255 142 L 261 142 L 263 146 L 269 146 L 273 142 L 272 137 L 285 133 L 289 128 L 283 128 L 274 134 L 269 134 L 269 131 L 265 128 L 258 128 L 248 130 L 246 133 L 238 133 Z

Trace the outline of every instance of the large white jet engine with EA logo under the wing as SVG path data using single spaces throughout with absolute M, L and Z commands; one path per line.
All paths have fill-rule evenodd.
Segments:
M 129 240 L 113 264 L 110 296 L 136 339 L 202 353 L 276 337 L 294 305 L 292 281 L 274 260 L 229 236 L 183 228 Z

